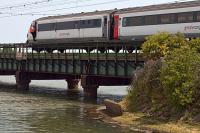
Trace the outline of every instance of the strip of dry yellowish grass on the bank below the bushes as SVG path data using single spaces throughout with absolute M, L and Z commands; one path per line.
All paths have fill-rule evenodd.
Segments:
M 113 117 L 113 120 L 126 125 L 129 128 L 138 128 L 159 133 L 199 133 L 200 124 L 186 123 L 182 121 L 165 121 L 143 113 L 125 112 L 120 117 Z

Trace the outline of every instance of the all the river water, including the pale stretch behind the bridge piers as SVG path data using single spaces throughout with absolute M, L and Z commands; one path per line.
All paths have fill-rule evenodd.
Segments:
M 33 81 L 30 91 L 15 91 L 14 77 L 0 77 L 0 133 L 129 133 L 97 120 L 103 99 L 120 100 L 127 87 L 100 87 L 97 101 L 68 94 L 65 81 Z M 81 90 L 81 89 L 80 89 Z

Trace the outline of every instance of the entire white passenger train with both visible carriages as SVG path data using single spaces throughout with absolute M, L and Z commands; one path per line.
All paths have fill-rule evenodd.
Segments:
M 200 37 L 200 1 L 43 17 L 32 22 L 27 42 L 144 41 L 157 32 Z

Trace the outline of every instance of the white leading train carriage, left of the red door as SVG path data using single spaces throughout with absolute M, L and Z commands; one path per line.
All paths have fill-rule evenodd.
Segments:
M 112 38 L 113 11 L 96 11 L 63 16 L 45 17 L 34 21 L 35 39 L 31 32 L 28 41 L 70 42 L 109 40 Z M 33 26 L 31 26 L 33 27 Z

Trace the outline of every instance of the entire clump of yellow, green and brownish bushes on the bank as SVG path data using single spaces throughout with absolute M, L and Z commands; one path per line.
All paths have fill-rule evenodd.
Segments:
M 173 115 L 200 107 L 200 38 L 186 41 L 180 33 L 158 33 L 147 37 L 142 51 L 148 61 L 128 90 L 130 111 L 163 107 Z

